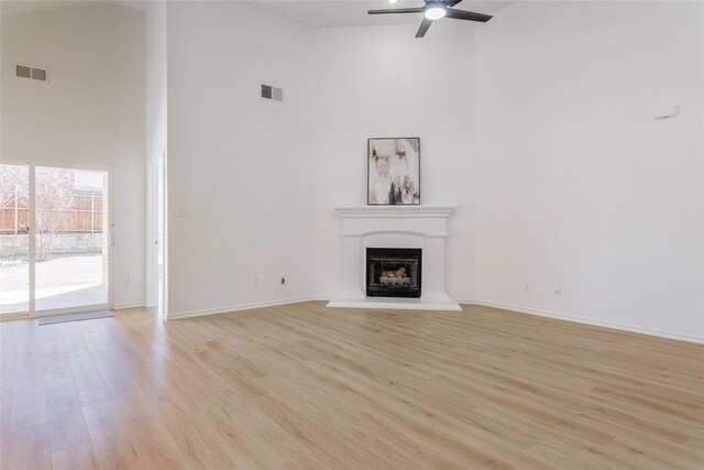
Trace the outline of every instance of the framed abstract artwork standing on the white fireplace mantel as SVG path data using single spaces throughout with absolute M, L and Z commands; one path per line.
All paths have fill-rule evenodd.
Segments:
M 366 160 L 367 205 L 420 204 L 420 138 L 370 139 Z

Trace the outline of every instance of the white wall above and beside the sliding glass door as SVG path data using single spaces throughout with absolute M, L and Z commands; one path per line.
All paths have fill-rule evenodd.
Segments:
M 114 305 L 144 303 L 144 14 L 3 17 L 1 42 L 2 159 L 114 165 Z M 15 63 L 47 67 L 50 81 L 16 78 Z

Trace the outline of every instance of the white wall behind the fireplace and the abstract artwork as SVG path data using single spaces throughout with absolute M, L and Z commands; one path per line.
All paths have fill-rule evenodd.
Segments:
M 422 205 L 452 205 L 448 288 L 474 297 L 474 26 L 444 22 L 315 31 L 315 294 L 340 288 L 336 206 L 366 205 L 366 140 L 420 138 Z

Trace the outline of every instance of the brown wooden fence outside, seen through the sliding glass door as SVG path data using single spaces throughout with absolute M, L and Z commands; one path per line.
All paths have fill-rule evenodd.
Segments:
M 37 195 L 37 199 L 44 197 Z M 12 198 L 0 208 L 0 234 L 26 233 L 30 209 L 26 199 Z M 51 209 L 47 209 L 51 210 Z M 62 232 L 102 232 L 102 192 L 76 190 L 70 209 L 63 210 Z

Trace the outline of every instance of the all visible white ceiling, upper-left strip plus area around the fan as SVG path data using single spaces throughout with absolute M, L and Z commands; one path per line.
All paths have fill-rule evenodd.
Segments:
M 178 1 L 178 0 L 169 0 Z M 226 0 L 227 1 L 227 0 Z M 238 0 L 229 0 L 238 1 Z M 517 0 L 464 0 L 455 8 L 492 14 L 502 8 L 515 3 Z M 105 3 L 103 0 L 2 0 L 0 13 L 6 15 L 34 13 L 37 11 L 61 10 L 64 8 L 82 7 L 86 4 Z M 145 11 L 150 1 L 121 0 L 111 1 L 124 7 Z M 400 0 L 395 4 L 386 0 L 251 0 L 245 3 L 266 10 L 279 17 L 314 28 L 329 26 L 362 26 L 374 24 L 417 23 L 420 14 L 383 14 L 369 15 L 366 10 L 380 8 L 420 7 L 422 0 Z

